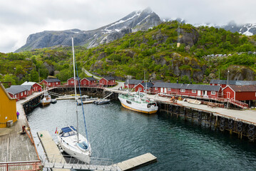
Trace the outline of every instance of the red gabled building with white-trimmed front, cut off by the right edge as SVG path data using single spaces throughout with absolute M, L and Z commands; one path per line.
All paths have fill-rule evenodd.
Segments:
M 229 85 L 223 89 L 223 96 L 232 100 L 256 100 L 256 85 Z

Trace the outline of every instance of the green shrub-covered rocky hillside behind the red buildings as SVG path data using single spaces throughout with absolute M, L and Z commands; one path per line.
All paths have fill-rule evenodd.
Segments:
M 177 21 L 148 31 L 130 33 L 97 48 L 75 47 L 80 77 L 86 68 L 98 76 L 125 80 L 145 77 L 184 83 L 208 83 L 212 78 L 255 80 L 256 36 L 243 36 L 222 28 L 195 28 Z M 177 45 L 180 46 L 178 47 Z M 43 48 L 0 54 L 0 80 L 20 84 L 48 75 L 66 81 L 72 76 L 71 47 Z

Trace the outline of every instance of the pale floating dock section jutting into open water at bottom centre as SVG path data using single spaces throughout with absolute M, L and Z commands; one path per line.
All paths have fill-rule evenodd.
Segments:
M 150 163 L 157 162 L 157 157 L 151 153 L 146 153 L 138 157 L 131 158 L 129 160 L 118 162 L 116 165 L 123 171 L 134 170 L 135 168 L 141 167 L 143 165 L 148 165 Z

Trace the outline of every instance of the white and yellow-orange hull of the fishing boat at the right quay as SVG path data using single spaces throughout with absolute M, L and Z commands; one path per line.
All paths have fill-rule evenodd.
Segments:
M 121 104 L 124 108 L 134 110 L 140 113 L 148 113 L 153 114 L 158 111 L 157 105 L 150 105 L 149 103 L 136 103 L 133 100 L 130 100 L 128 98 L 122 98 L 120 95 L 118 95 L 118 99 L 120 100 Z

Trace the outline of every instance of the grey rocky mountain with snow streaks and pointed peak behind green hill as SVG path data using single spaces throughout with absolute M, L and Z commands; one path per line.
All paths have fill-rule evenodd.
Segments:
M 71 29 L 66 31 L 43 31 L 29 35 L 26 44 L 16 50 L 30 51 L 35 48 L 51 46 L 71 46 L 70 38 L 73 36 L 75 46 L 96 47 L 101 43 L 109 43 L 123 37 L 126 33 L 145 31 L 153 26 L 158 26 L 162 21 L 151 9 L 133 11 L 113 24 L 108 24 L 96 30 L 81 31 Z

